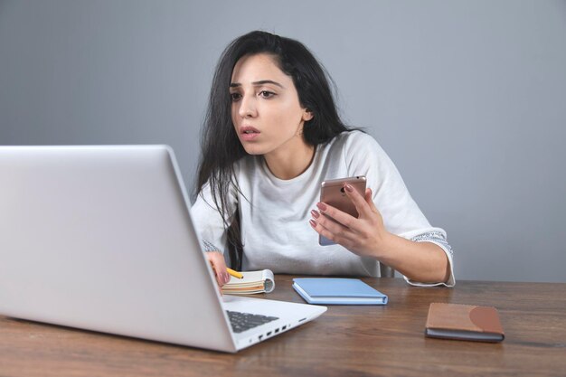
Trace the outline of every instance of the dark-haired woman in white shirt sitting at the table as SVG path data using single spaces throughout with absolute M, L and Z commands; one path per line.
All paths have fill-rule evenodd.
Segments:
M 430 226 L 373 137 L 344 126 L 300 42 L 264 32 L 231 42 L 202 146 L 192 212 L 207 249 L 222 246 L 207 253 L 219 285 L 229 280 L 222 250 L 236 269 L 376 277 L 382 262 L 410 284 L 454 285 L 445 231 Z M 354 175 L 368 185 L 364 195 L 344 186 L 357 219 L 318 203 L 323 181 Z

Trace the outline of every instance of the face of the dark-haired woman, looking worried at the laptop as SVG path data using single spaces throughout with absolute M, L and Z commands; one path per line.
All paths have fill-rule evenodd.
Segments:
M 231 119 L 250 155 L 286 157 L 307 146 L 303 125 L 312 114 L 269 54 L 242 57 L 232 71 L 230 93 Z

